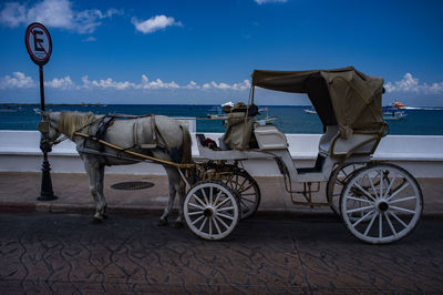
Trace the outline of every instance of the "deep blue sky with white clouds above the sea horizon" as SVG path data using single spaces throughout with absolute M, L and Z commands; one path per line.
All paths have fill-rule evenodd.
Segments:
M 1 1 L 0 102 L 39 102 L 24 47 L 49 29 L 47 102 L 247 101 L 254 69 L 354 65 L 383 102 L 443 105 L 443 1 Z M 259 91 L 259 104 L 307 104 Z

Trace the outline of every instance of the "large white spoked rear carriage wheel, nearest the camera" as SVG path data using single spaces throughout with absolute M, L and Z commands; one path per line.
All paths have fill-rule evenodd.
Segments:
M 367 243 L 387 244 L 415 228 L 423 195 L 408 171 L 380 163 L 353 173 L 341 193 L 340 208 L 353 235 Z

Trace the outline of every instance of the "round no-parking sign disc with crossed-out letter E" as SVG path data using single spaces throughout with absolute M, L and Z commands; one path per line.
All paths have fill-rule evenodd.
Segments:
M 40 67 L 48 63 L 52 53 L 51 35 L 47 28 L 39 22 L 28 26 L 24 43 L 31 60 Z

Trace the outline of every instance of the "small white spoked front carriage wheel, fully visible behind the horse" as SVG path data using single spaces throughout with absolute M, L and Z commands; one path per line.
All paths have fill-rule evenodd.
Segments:
M 236 194 L 224 183 L 208 181 L 190 187 L 184 214 L 190 231 L 206 240 L 227 237 L 240 217 Z

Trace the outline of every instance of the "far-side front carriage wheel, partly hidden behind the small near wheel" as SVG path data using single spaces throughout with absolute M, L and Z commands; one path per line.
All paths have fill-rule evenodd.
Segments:
M 240 218 L 253 216 L 257 212 L 261 199 L 260 187 L 253 176 L 244 170 L 235 170 L 222 175 L 222 181 L 237 194 L 241 208 Z

